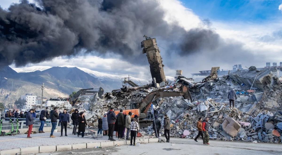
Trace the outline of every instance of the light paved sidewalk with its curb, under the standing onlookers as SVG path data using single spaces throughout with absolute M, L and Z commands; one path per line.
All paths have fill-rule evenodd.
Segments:
M 87 132 L 87 130 L 86 130 Z M 27 134 L 18 134 L 14 136 L 0 136 L 0 155 L 4 152 L 12 151 L 12 152 L 21 152 L 28 150 L 29 152 L 34 149 L 35 151 L 32 153 L 41 152 L 41 150 L 49 148 L 54 148 L 53 151 L 58 151 L 63 148 L 65 150 L 72 150 L 78 148 L 91 148 L 91 147 L 107 147 L 107 146 L 114 146 L 118 145 L 127 145 L 129 141 L 125 141 L 125 139 L 118 139 L 114 135 L 114 139 L 116 141 L 111 142 L 108 140 L 108 136 L 84 136 L 85 138 L 77 137 L 77 135 L 72 135 L 72 129 L 67 130 L 67 135 L 60 137 L 61 132 L 54 132 L 53 134 L 56 138 L 50 138 L 50 132 L 46 133 L 36 133 L 31 134 L 32 138 L 27 138 Z M 157 142 L 158 139 L 154 138 L 148 140 L 148 137 L 144 138 L 136 138 L 136 142 L 140 143 L 151 143 Z M 73 144 L 80 144 L 80 145 L 73 145 Z M 82 146 L 82 147 L 80 147 Z M 41 149 L 42 147 L 42 149 Z M 13 150 L 12 150 L 13 149 Z M 39 151 L 40 150 L 40 151 Z M 47 150 L 50 152 L 50 150 Z M 27 153 L 28 154 L 28 153 Z

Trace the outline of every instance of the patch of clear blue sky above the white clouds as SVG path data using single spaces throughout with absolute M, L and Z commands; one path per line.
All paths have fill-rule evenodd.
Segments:
M 202 19 L 259 23 L 281 18 L 282 0 L 181 0 Z

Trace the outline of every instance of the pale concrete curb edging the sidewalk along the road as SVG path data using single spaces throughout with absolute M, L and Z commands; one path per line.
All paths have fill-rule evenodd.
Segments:
M 142 139 L 142 140 L 141 140 Z M 156 143 L 158 138 L 141 138 L 141 143 Z M 18 149 L 8 149 L 0 150 L 0 155 L 6 154 L 33 154 L 33 153 L 43 153 L 43 152 L 55 152 L 61 150 L 75 150 L 75 149 L 86 149 L 86 148 L 96 148 L 96 147 L 111 147 L 115 145 L 129 145 L 130 141 L 103 141 L 103 142 L 93 142 L 93 143 L 79 143 L 79 144 L 66 144 L 66 145 L 46 145 L 46 146 L 35 146 L 35 147 L 25 147 Z

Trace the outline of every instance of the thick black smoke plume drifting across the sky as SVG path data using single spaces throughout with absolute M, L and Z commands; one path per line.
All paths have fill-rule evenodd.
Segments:
M 120 55 L 131 63 L 144 60 L 143 36 L 162 40 L 169 54 L 214 50 L 221 38 L 213 30 L 186 31 L 164 21 L 159 1 L 22 0 L 0 8 L 0 64 L 24 66 L 82 51 L 95 56 Z M 187 19 L 189 20 L 189 19 Z

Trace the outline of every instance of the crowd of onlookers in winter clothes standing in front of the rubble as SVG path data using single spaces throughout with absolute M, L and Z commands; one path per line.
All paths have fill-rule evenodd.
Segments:
M 45 121 L 46 119 L 51 119 L 52 129 L 51 129 L 50 137 L 55 138 L 56 136 L 54 136 L 53 133 L 54 133 L 54 130 L 56 129 L 57 120 L 59 119 L 59 122 L 61 125 L 61 137 L 63 136 L 63 129 L 65 129 L 65 136 L 68 136 L 67 135 L 67 125 L 70 123 L 70 119 L 72 119 L 72 125 L 73 125 L 72 134 L 77 135 L 78 137 L 81 135 L 81 137 L 84 138 L 85 127 L 87 126 L 87 121 L 85 119 L 84 112 L 79 113 L 78 109 L 75 109 L 71 117 L 69 117 L 69 114 L 67 113 L 67 109 L 64 109 L 62 112 L 59 113 L 57 110 L 57 107 L 54 107 L 54 109 L 51 110 L 50 112 L 48 112 L 47 108 L 46 110 L 41 110 L 40 115 L 39 115 L 39 120 L 40 120 L 39 133 L 45 133 L 43 131 Z M 13 111 L 13 112 L 8 111 L 5 114 L 5 117 L 6 118 L 25 118 L 26 125 L 28 126 L 27 138 L 32 138 L 30 137 L 30 134 L 32 131 L 34 119 L 37 118 L 35 109 L 30 109 L 29 111 L 24 112 L 24 113 L 22 111 L 20 113 L 18 113 L 18 111 Z M 204 123 L 205 122 L 203 122 L 203 126 L 205 128 L 208 127 L 207 121 L 206 121 L 206 124 Z M 166 142 L 169 142 L 170 120 L 166 114 L 164 115 L 163 127 L 164 127 L 164 134 L 166 137 Z M 204 127 L 203 127 L 203 131 L 205 131 Z M 153 129 L 155 130 L 157 138 L 159 137 L 160 128 L 161 128 L 161 121 L 158 119 L 157 116 L 155 116 L 155 121 L 153 123 Z M 77 129 L 78 129 L 78 132 L 76 132 Z M 116 131 L 116 137 L 118 139 L 130 140 L 131 145 L 135 145 L 135 139 L 136 139 L 136 136 L 138 135 L 139 129 L 140 129 L 139 117 L 138 115 L 134 115 L 134 117 L 132 117 L 132 112 L 128 112 L 128 114 L 125 114 L 123 110 L 120 110 L 119 113 L 116 115 L 114 113 L 114 108 L 111 108 L 107 113 L 103 115 L 103 117 L 98 117 L 97 135 L 102 136 L 102 132 L 103 132 L 103 136 L 108 136 L 109 137 L 108 140 L 110 141 L 116 141 L 113 138 L 113 133 L 114 131 Z M 126 132 L 126 135 L 125 135 L 125 132 Z M 199 134 L 201 133 L 202 132 L 199 130 Z M 204 133 L 206 135 L 206 132 Z M 129 138 L 129 135 L 130 135 L 130 138 Z M 195 141 L 197 141 L 198 137 L 199 136 L 195 138 Z

